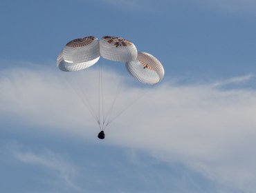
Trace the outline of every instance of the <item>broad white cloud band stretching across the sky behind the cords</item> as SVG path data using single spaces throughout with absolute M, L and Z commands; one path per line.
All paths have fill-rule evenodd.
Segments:
M 48 131 L 95 137 L 95 121 L 63 84 L 62 74 L 44 68 L 1 72 L 0 100 L 4 102 L 0 113 L 8 112 L 25 123 L 47 125 Z M 112 86 L 111 76 L 107 74 L 105 88 Z M 118 117 L 106 130 L 104 140 L 145 150 L 158 159 L 184 163 L 220 185 L 255 192 L 256 91 L 219 89 L 219 85 L 252 77 L 216 81 L 217 87 L 212 86 L 214 83 L 162 83 Z M 135 90 L 127 86 L 125 90 L 120 99 L 129 103 L 129 95 Z M 93 92 L 90 87 L 86 91 Z M 57 162 L 29 152 L 17 158 L 45 167 L 55 167 Z M 61 169 L 56 170 L 61 173 Z

